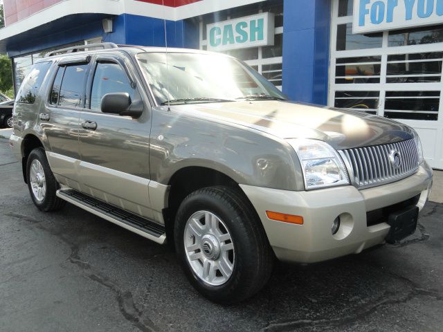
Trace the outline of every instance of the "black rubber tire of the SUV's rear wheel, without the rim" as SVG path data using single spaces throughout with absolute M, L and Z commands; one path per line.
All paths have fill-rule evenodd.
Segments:
M 46 180 L 46 194 L 41 201 L 35 196 L 30 180 L 30 167 L 33 164 L 33 160 L 38 160 L 42 165 Z M 37 206 L 40 211 L 48 212 L 60 210 L 66 204 L 66 201 L 63 201 L 56 196 L 56 192 L 60 189 L 60 185 L 55 180 L 54 174 L 51 171 L 51 167 L 49 166 L 48 160 L 46 159 L 46 154 L 42 147 L 33 149 L 28 156 L 28 161 L 26 163 L 26 181 L 28 182 L 28 189 L 31 199 L 33 199 L 35 206 Z

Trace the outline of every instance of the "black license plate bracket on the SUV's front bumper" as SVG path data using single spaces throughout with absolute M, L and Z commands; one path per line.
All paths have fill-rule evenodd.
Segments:
M 390 230 L 386 237 L 386 242 L 397 243 L 402 239 L 414 234 L 418 222 L 418 207 L 408 207 L 403 210 L 393 212 L 388 217 Z

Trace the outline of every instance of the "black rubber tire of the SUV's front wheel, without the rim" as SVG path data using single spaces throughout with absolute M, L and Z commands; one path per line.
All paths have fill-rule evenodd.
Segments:
M 235 250 L 233 272 L 220 286 L 204 282 L 192 270 L 186 256 L 184 232 L 195 212 L 205 210 L 223 221 L 231 235 Z M 206 187 L 192 192 L 177 212 L 174 240 L 181 266 L 192 286 L 213 302 L 235 304 L 258 293 L 268 282 L 274 255 L 251 203 L 228 187 Z

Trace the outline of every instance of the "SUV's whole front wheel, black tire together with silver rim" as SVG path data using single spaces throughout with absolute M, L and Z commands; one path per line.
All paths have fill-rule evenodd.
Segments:
M 177 212 L 174 240 L 186 277 L 213 302 L 248 299 L 271 275 L 274 255 L 262 224 L 251 203 L 228 187 L 187 196 Z

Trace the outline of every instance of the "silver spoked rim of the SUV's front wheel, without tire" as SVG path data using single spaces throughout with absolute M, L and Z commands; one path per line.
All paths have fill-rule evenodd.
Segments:
M 215 214 L 199 211 L 186 222 L 186 257 L 194 273 L 210 286 L 225 284 L 233 274 L 235 250 L 226 225 Z

